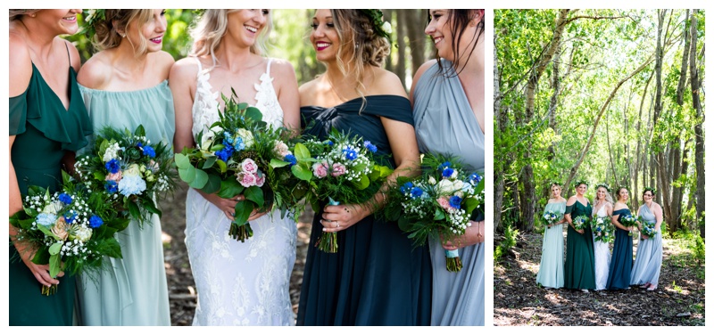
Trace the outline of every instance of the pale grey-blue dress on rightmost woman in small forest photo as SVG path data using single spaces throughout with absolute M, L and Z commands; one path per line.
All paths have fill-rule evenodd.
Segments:
M 640 216 L 649 223 L 656 223 L 654 213 L 647 205 L 640 207 Z M 647 282 L 657 287 L 660 281 L 662 267 L 662 232 L 657 231 L 653 238 L 640 239 L 635 256 L 635 265 L 632 266 L 631 285 L 643 285 Z

